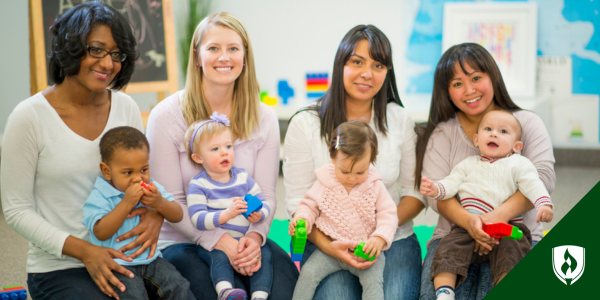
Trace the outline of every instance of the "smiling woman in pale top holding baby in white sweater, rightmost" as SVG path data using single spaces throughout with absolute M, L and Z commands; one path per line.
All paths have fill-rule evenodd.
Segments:
M 451 47 L 440 58 L 434 75 L 429 121 L 419 130 L 415 183 L 421 176 L 438 181 L 454 166 L 472 155 L 481 155 L 473 143 L 474 133 L 485 113 L 504 109 L 521 123 L 523 149 L 520 154 L 536 167 L 548 193 L 554 190 L 554 155 L 552 143 L 542 120 L 534 113 L 521 110 L 510 98 L 500 70 L 492 56 L 478 44 L 465 43 Z M 533 204 L 520 191 L 490 213 L 474 215 L 456 198 L 437 202 L 428 198 L 429 206 L 440 217 L 428 243 L 421 275 L 421 299 L 436 299 L 430 280 L 433 255 L 452 223 L 466 229 L 477 241 L 476 251 L 487 254 L 494 240 L 481 229 L 482 222 L 508 223 L 524 213 L 523 223 L 530 229 L 533 245 L 543 237 L 541 223 L 536 223 Z M 494 251 L 494 250 L 491 250 Z M 456 289 L 458 299 L 481 299 L 492 288 L 489 262 L 472 264 L 465 283 Z

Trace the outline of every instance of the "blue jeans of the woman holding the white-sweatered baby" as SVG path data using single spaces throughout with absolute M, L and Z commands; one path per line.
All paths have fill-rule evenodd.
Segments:
M 431 264 L 435 249 L 442 239 L 436 239 L 431 242 L 427 248 L 427 255 L 423 262 L 423 272 L 421 273 L 421 300 L 435 300 L 435 287 L 431 280 Z M 532 248 L 538 242 L 532 243 Z M 492 268 L 490 262 L 481 264 L 472 264 L 467 272 L 467 279 L 458 286 L 455 292 L 455 299 L 481 300 L 492 290 Z

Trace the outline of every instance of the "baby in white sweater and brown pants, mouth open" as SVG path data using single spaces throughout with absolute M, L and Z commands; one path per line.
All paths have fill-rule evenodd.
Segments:
M 521 125 L 512 113 L 488 112 L 473 139 L 481 156 L 467 157 L 438 182 L 423 177 L 421 193 L 434 200 L 446 200 L 458 194 L 457 198 L 468 212 L 483 214 L 499 207 L 519 190 L 537 209 L 537 222 L 550 222 L 554 216 L 550 196 L 531 161 L 516 154 L 523 148 L 520 139 Z M 475 255 L 475 241 L 465 229 L 455 225 L 440 241 L 431 267 L 438 299 L 454 299 L 454 288 L 464 281 L 472 263 L 489 259 L 493 284 L 504 278 L 531 249 L 531 234 L 522 222 L 522 215 L 510 221 L 523 231 L 523 239 L 503 239 L 484 256 Z M 465 258 L 465 253 L 472 255 Z

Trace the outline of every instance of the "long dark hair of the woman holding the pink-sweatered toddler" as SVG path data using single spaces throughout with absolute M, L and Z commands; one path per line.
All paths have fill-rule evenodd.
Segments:
M 384 64 L 387 74 L 381 89 L 375 94 L 373 101 L 372 116 L 375 127 L 383 135 L 387 135 L 387 104 L 390 102 L 402 106 L 398 88 L 396 87 L 396 76 L 392 63 L 392 46 L 388 38 L 373 25 L 358 25 L 344 36 L 338 47 L 333 63 L 333 75 L 331 86 L 327 93 L 321 97 L 315 105 L 300 109 L 297 113 L 310 110 L 315 111 L 321 120 L 321 138 L 325 141 L 331 140 L 331 133 L 340 124 L 348 121 L 346 119 L 346 90 L 344 88 L 344 66 L 354 53 L 358 42 L 366 40 L 369 42 L 369 55 L 376 61 Z M 294 114 L 292 118 L 296 115 Z M 292 120 L 290 118 L 290 121 Z

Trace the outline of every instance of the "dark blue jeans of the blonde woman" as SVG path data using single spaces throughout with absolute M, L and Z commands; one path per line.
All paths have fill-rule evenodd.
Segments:
M 273 285 L 268 299 L 292 299 L 298 269 L 290 256 L 275 242 L 267 239 L 266 243 L 273 256 Z M 210 269 L 198 256 L 194 244 L 177 244 L 162 250 L 163 257 L 177 268 L 181 275 L 190 282 L 190 288 L 198 300 L 215 300 L 217 292 L 210 278 Z M 234 287 L 250 290 L 249 277 L 234 274 Z

